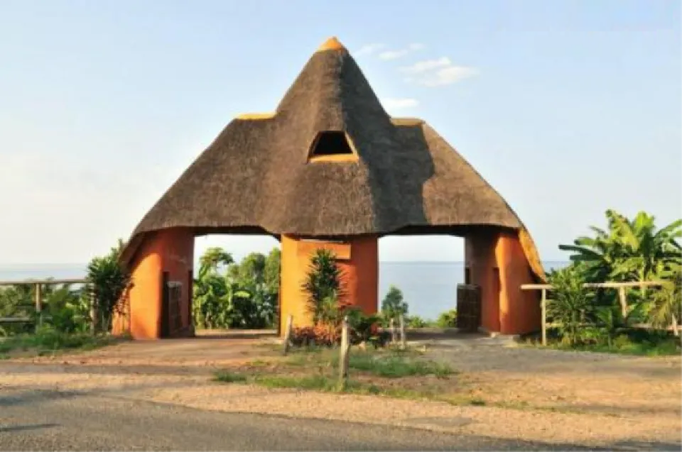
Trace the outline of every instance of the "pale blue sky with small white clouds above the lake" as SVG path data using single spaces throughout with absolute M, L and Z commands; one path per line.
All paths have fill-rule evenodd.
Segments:
M 431 123 L 502 193 L 543 260 L 609 208 L 682 217 L 679 1 L 0 0 L 0 264 L 85 263 L 128 238 L 332 35 L 389 114 Z M 383 238 L 379 256 L 462 260 L 463 241 Z

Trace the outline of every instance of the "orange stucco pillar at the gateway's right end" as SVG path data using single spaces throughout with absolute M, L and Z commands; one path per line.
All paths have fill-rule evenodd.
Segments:
M 489 332 L 526 334 L 540 328 L 540 303 L 521 285 L 534 277 L 516 231 L 484 231 L 465 238 L 470 282 L 481 287 L 481 326 Z

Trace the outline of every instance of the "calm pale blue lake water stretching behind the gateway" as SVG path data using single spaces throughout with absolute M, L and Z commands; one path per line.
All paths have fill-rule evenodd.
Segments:
M 564 262 L 545 262 L 545 270 L 561 268 Z M 81 278 L 85 265 L 0 265 L 0 281 L 53 277 Z M 391 285 L 398 287 L 409 305 L 409 313 L 435 319 L 440 312 L 457 306 L 457 285 L 464 282 L 461 262 L 382 262 L 379 263 L 379 299 Z

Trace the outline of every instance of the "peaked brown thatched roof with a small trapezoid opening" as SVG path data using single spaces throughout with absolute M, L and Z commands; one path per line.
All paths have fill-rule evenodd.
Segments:
M 311 158 L 321 131 L 345 132 L 351 154 Z M 523 228 L 433 128 L 391 118 L 334 39 L 310 57 L 273 114 L 239 116 L 224 128 L 144 216 L 129 247 L 141 234 L 178 226 L 325 237 Z

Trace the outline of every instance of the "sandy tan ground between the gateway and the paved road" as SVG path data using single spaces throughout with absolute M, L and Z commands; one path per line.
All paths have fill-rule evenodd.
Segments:
M 460 372 L 453 385 L 485 407 L 268 390 L 212 373 L 276 359 L 267 339 L 121 343 L 98 351 L 0 362 L 0 392 L 57 389 L 224 412 L 410 426 L 615 450 L 682 451 L 682 357 L 539 351 L 469 336 L 428 344 Z

